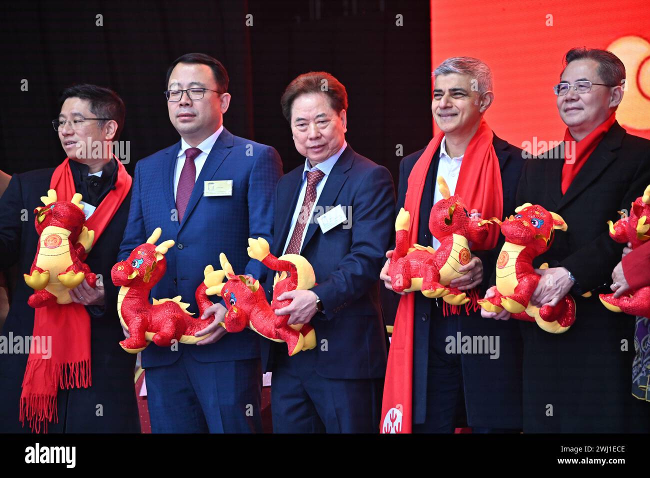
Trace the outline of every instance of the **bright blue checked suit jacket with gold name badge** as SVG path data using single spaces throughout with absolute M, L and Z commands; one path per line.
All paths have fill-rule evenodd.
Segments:
M 175 244 L 165 254 L 167 272 L 153 287 L 151 297 L 181 295 L 191 304 L 188 310 L 199 317 L 194 291 L 203 281 L 206 265 L 220 269 L 220 252 L 226 254 L 237 274 L 265 280 L 266 268 L 248 258 L 246 248 L 248 237 L 272 242 L 272 199 L 282 175 L 282 162 L 274 148 L 233 136 L 224 128 L 201 168 L 179 223 L 174 214 L 174 170 L 180 148 L 179 141 L 138 161 L 118 260 L 127 258 L 155 228 L 161 228 L 159 242 L 174 239 Z M 203 196 L 203 181 L 227 179 L 233 181 L 232 196 Z M 142 352 L 142 365 L 172 364 L 185 351 L 200 362 L 245 360 L 259 357 L 259 340 L 254 332 L 244 330 L 227 334 L 211 345 L 178 344 L 177 351 L 152 344 Z

